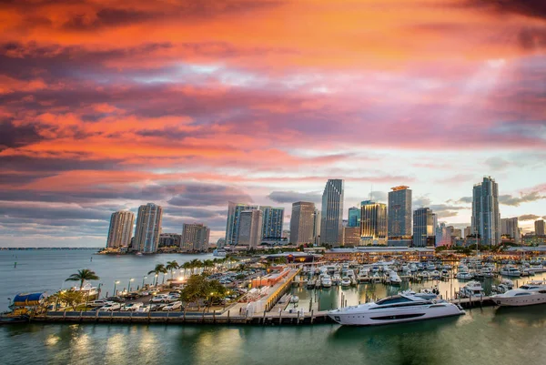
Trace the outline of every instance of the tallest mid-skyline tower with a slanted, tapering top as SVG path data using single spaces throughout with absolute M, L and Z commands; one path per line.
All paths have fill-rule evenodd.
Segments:
M 343 180 L 329 179 L 322 193 L 320 212 L 320 242 L 334 246 L 341 245 L 343 238 Z

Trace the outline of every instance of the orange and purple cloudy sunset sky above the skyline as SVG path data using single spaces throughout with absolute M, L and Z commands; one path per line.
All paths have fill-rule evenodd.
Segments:
M 470 224 L 546 215 L 543 0 L 7 0 L 0 247 L 102 247 L 112 212 L 223 237 L 227 201 L 407 185 Z

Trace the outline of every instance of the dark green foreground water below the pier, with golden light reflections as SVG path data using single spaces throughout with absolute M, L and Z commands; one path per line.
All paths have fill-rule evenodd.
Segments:
M 543 365 L 544 307 L 373 328 L 33 324 L 0 328 L 11 364 Z

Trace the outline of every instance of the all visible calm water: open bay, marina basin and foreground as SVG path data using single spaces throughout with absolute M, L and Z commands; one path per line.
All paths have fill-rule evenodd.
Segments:
M 105 290 L 111 291 L 114 280 L 121 280 L 124 287 L 124 281 L 138 275 L 142 279 L 157 263 L 207 258 L 95 255 L 90 262 L 92 253 L 89 250 L 0 252 L 0 298 L 5 299 L 6 306 L 7 298 L 19 291 L 53 292 L 62 286 L 66 288 L 64 279 L 76 269 L 84 268 L 96 270 Z M 486 290 L 492 283 L 484 283 Z M 413 288 L 432 284 L 427 282 Z M 463 284 L 458 280 L 441 282 L 440 291 L 445 295 Z M 312 291 L 294 288 L 293 292 L 300 297 L 302 308 L 312 299 L 320 300 L 321 309 L 330 309 L 339 307 L 342 295 L 350 305 L 364 301 L 367 296 L 380 298 L 398 290 L 360 285 Z M 546 306 L 476 308 L 458 318 L 375 328 L 32 324 L 0 327 L 0 364 L 543 365 L 544 339 Z

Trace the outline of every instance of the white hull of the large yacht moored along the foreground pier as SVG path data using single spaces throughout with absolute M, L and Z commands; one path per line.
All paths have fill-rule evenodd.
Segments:
M 343 326 L 379 326 L 426 319 L 459 316 L 464 310 L 455 305 L 420 306 L 412 309 L 371 309 L 363 312 L 333 311 L 329 318 Z

